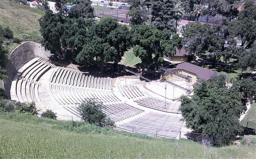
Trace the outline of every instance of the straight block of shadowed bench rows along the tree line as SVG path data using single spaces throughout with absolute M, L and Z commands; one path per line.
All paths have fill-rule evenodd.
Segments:
M 81 72 L 76 69 L 64 67 L 58 67 L 58 69 L 52 73 L 50 82 L 105 90 L 112 89 L 111 78 L 105 75 Z

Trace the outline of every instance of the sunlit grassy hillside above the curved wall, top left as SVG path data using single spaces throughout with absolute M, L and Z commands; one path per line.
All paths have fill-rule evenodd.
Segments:
M 29 6 L 14 3 L 10 0 L 0 0 L 0 25 L 12 29 L 15 38 L 22 41 L 41 38 L 38 19 L 44 12 Z M 7 43 L 10 52 L 17 43 Z

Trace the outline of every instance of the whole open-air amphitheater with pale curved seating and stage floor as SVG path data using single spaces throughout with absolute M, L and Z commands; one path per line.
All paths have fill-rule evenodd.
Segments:
M 174 82 L 184 84 L 179 79 Z M 82 72 L 35 57 L 14 75 L 10 97 L 20 102 L 35 101 L 37 109 L 52 110 L 60 120 L 81 120 L 76 107 L 87 98 L 95 98 L 103 103 L 102 111 L 115 122 L 116 130 L 180 138 L 184 121 L 177 99 L 186 92 L 166 85 L 136 77 Z

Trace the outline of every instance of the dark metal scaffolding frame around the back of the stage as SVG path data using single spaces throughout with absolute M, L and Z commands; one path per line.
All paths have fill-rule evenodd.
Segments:
M 185 89 L 187 93 L 191 93 L 192 77 L 190 77 L 188 75 L 183 75 L 182 73 L 179 73 L 179 72 L 172 71 L 172 70 L 170 70 L 166 67 L 159 67 L 158 71 L 161 72 L 161 73 L 166 73 L 167 72 L 167 73 L 170 73 L 173 76 L 176 76 L 178 78 L 182 78 L 183 80 L 186 81 L 186 88 L 178 86 L 177 84 L 174 84 L 170 81 L 168 81 L 168 83 L 174 84 L 176 87 L 179 87 L 181 89 Z

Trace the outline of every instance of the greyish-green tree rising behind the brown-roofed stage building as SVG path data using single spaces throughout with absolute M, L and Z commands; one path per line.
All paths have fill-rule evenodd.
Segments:
M 224 51 L 225 38 L 220 26 L 211 26 L 199 22 L 189 23 L 183 27 L 183 41 L 187 51 L 196 55 L 207 53 L 207 59 L 215 61 L 221 57 Z

